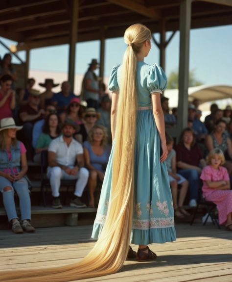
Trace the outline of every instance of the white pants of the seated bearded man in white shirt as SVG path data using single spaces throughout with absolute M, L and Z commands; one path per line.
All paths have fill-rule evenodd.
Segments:
M 47 168 L 47 177 L 50 179 L 51 191 L 53 197 L 59 197 L 60 180 L 74 180 L 76 181 L 74 195 L 81 197 L 89 178 L 89 171 L 82 167 L 79 169 L 77 175 L 69 175 L 58 166 Z

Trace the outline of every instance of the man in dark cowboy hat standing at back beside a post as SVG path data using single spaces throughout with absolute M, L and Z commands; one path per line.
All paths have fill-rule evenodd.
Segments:
M 103 94 L 102 90 L 99 89 L 99 81 L 94 73 L 99 66 L 96 59 L 92 59 L 89 64 L 89 69 L 86 72 L 82 82 L 82 95 L 83 99 L 86 100 L 88 108 L 98 108 L 99 97 Z

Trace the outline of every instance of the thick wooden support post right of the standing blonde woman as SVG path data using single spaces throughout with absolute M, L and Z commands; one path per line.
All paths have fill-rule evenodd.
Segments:
M 189 37 L 191 26 L 191 0 L 183 0 L 180 5 L 180 61 L 177 137 L 187 126 L 188 115 L 188 72 Z

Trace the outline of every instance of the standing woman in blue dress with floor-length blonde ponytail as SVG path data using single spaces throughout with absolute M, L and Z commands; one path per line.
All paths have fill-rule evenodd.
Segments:
M 113 68 L 109 82 L 113 149 L 93 227 L 92 236 L 98 240 L 80 262 L 1 273 L 4 281 L 65 282 L 112 274 L 128 255 L 135 256 L 130 242 L 139 245 L 135 258 L 147 261 L 156 259 L 148 244 L 175 240 L 160 102 L 166 77 L 160 66 L 143 62 L 151 48 L 146 26 L 128 27 L 124 40 L 123 63 Z

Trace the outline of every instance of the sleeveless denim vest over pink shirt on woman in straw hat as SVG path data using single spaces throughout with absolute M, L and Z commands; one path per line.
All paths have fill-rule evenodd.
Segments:
M 8 154 L 6 150 L 0 149 L 0 171 L 3 171 L 6 168 L 12 169 L 17 168 L 18 172 L 21 171 L 21 151 L 20 151 L 20 142 L 17 141 L 16 148 L 11 146 L 11 159 L 8 159 Z

